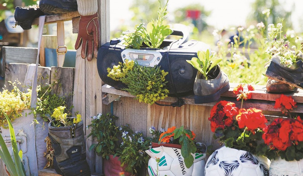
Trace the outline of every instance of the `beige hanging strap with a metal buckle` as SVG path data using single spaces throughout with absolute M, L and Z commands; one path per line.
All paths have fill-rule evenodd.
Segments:
M 65 53 L 67 48 L 64 43 L 64 22 L 57 22 L 57 64 L 58 67 L 63 67 Z

